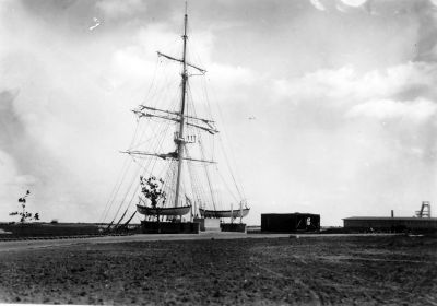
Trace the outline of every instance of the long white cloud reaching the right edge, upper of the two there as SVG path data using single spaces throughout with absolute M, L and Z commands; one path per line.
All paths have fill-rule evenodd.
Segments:
M 304 101 L 332 101 L 335 104 L 355 104 L 367 99 L 406 94 L 416 87 L 433 89 L 437 79 L 435 64 L 409 62 L 358 73 L 354 67 L 336 70 L 321 69 L 293 80 L 274 80 L 279 98 Z

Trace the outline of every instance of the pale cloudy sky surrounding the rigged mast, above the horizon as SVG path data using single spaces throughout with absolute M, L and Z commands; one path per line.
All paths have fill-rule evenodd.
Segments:
M 0 221 L 95 222 L 184 1 L 0 0 Z M 189 1 L 252 211 L 411 216 L 437 202 L 436 0 Z M 175 47 L 176 46 L 176 47 Z M 249 120 L 255 117 L 255 120 Z

